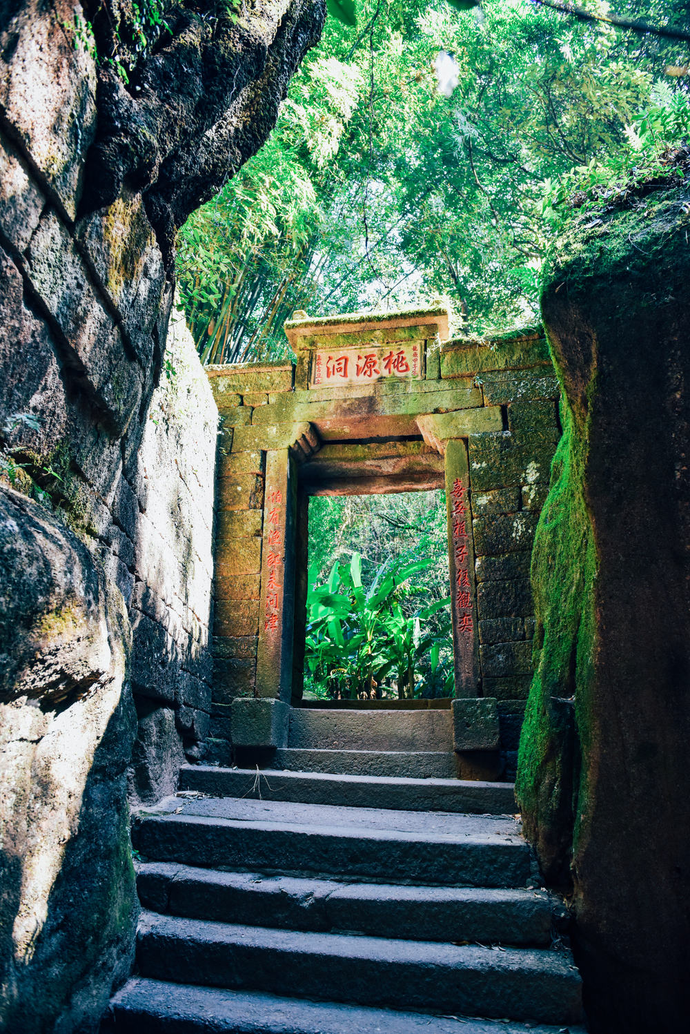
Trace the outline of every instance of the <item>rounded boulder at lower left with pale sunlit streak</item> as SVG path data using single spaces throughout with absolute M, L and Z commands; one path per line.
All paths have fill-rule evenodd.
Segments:
M 88 1029 L 138 912 L 129 618 L 73 533 L 2 487 L 0 586 L 0 1026 Z

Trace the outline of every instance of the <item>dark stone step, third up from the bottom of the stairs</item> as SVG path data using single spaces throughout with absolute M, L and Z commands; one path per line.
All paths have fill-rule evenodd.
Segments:
M 139 865 L 136 887 L 145 908 L 190 919 L 411 941 L 550 945 L 565 917 L 543 890 L 272 879 L 176 862 Z

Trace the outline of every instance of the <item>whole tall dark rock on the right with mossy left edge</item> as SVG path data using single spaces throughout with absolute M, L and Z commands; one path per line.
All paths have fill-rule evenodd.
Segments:
M 564 434 L 532 559 L 525 830 L 574 886 L 595 1032 L 685 1024 L 690 825 L 687 192 L 566 235 L 542 299 Z

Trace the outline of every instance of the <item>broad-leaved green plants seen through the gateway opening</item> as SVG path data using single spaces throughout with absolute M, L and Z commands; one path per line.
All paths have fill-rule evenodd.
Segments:
M 407 616 L 401 598 L 405 583 L 432 560 L 405 564 L 388 559 L 377 570 L 368 590 L 362 583 L 362 557 L 334 564 L 328 581 L 316 585 L 317 569 L 309 573 L 307 599 L 307 667 L 312 679 L 326 683 L 334 695 L 368 697 L 389 673 L 401 699 L 415 695 L 415 663 L 438 645 L 438 636 L 422 636 L 421 621 L 447 606 L 449 597 Z M 449 626 L 442 630 L 447 636 Z M 438 665 L 438 649 L 435 653 Z

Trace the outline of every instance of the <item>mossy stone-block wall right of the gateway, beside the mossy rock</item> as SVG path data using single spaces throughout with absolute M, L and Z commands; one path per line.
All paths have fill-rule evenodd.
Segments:
M 542 332 L 506 334 L 441 353 L 444 379 L 473 375 L 501 431 L 468 436 L 481 694 L 496 697 L 503 778 L 513 780 L 532 678 L 530 556 L 560 437 L 558 381 Z

